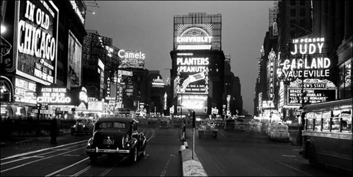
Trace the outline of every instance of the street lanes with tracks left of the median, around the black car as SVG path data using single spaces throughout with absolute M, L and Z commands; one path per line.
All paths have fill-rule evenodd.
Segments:
M 146 156 L 135 164 L 126 159 L 110 159 L 102 156 L 96 165 L 91 165 L 84 151 L 89 136 L 59 137 L 58 147 L 25 154 L 13 158 L 2 148 L 2 176 L 182 176 L 181 157 L 179 155 L 180 133 L 178 130 L 145 129 L 147 137 Z M 83 139 L 85 139 L 83 141 Z M 76 144 L 73 144 L 76 141 Z M 72 142 L 62 146 L 61 142 Z M 28 141 L 30 142 L 30 141 Z M 24 142 L 25 143 L 25 142 Z M 11 145 L 9 145 L 11 146 Z M 22 146 L 38 146 L 35 143 Z M 45 145 L 41 145 L 45 146 Z M 61 147 L 62 146 L 62 147 Z M 15 146 L 14 146 L 15 147 Z M 8 148 L 8 147 L 6 147 Z M 4 149 L 6 149 L 4 148 Z M 31 149 L 33 150 L 33 149 Z M 12 151 L 14 152 L 14 151 Z M 163 153 L 161 153 L 163 152 Z M 14 154 L 11 154 L 14 155 Z

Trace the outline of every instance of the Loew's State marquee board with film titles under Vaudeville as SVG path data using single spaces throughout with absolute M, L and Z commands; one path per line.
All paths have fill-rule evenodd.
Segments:
M 304 103 L 319 103 L 330 101 L 337 98 L 337 89 L 335 85 L 328 80 L 297 79 L 291 82 L 287 89 L 288 105 L 302 105 L 302 87 L 304 87 Z

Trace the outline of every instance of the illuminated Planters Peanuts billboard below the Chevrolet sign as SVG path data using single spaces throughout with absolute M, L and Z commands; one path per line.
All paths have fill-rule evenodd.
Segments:
M 208 94 L 208 66 L 204 56 L 177 56 L 177 93 Z

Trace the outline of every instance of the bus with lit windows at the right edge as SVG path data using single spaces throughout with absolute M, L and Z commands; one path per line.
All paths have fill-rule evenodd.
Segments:
M 303 106 L 300 154 L 309 164 L 352 171 L 352 98 Z

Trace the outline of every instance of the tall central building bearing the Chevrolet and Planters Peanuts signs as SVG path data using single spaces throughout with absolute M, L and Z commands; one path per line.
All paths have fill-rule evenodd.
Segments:
M 211 107 L 222 110 L 225 58 L 221 23 L 220 14 L 174 16 L 170 88 L 177 115 L 187 115 L 192 109 L 198 117 L 206 117 Z

